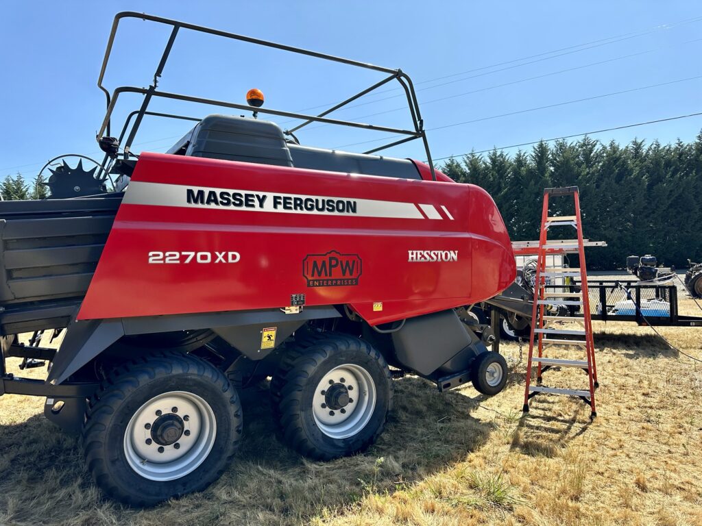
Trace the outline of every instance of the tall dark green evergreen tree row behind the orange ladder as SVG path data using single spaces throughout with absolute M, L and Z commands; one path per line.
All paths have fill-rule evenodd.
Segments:
M 702 133 L 665 145 L 633 140 L 622 147 L 590 137 L 539 142 L 511 156 L 493 150 L 449 159 L 439 169 L 486 189 L 514 241 L 538 239 L 544 188 L 579 187 L 583 235 L 607 241 L 588 249 L 589 269 L 623 268 L 628 255 L 653 254 L 677 268 L 702 259 Z M 572 199 L 550 203 L 551 214 L 573 213 Z

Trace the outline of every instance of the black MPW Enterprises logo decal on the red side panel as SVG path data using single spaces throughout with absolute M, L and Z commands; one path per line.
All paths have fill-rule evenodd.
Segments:
M 357 254 L 308 254 L 303 259 L 303 276 L 308 287 L 343 287 L 358 285 L 362 261 Z

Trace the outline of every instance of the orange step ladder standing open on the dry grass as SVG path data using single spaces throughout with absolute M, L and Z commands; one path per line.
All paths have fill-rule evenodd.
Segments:
M 575 215 L 548 215 L 549 198 L 573 196 Z M 574 227 L 577 239 L 548 241 L 548 229 L 552 227 Z M 547 255 L 562 252 L 564 249 L 577 249 L 580 268 L 547 267 Z M 541 393 L 576 396 L 590 406 L 590 418 L 597 416 L 595 410 L 595 389 L 597 367 L 595 365 L 595 344 L 592 340 L 592 320 L 590 319 L 590 300 L 588 295 L 588 275 L 585 265 L 583 245 L 583 227 L 580 214 L 580 196 L 578 187 L 547 188 L 543 193 L 543 211 L 541 213 L 541 235 L 538 241 L 536 279 L 534 281 L 534 306 L 531 311 L 531 334 L 529 335 L 529 359 L 527 360 L 527 386 L 524 389 L 523 412 L 529 412 L 529 400 Z M 579 292 L 550 292 L 546 278 L 580 277 Z M 553 288 L 553 287 L 551 287 Z M 574 290 L 571 288 L 571 290 Z M 549 307 L 566 305 L 581 307 L 583 318 L 575 316 L 552 316 Z M 577 310 L 577 309 L 576 309 Z M 582 323 L 582 330 L 562 329 L 562 323 Z M 557 324 L 557 327 L 554 325 Z M 545 348 L 571 347 L 585 351 L 585 360 L 570 360 L 543 356 Z M 537 353 L 534 356 L 534 349 Z M 532 367 L 536 362 L 536 385 L 531 383 Z M 588 374 L 589 389 L 563 389 L 541 385 L 543 372 L 552 367 L 578 367 Z

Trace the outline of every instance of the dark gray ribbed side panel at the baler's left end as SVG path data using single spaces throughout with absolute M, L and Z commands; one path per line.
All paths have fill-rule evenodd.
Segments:
M 67 326 L 121 195 L 0 202 L 0 335 Z

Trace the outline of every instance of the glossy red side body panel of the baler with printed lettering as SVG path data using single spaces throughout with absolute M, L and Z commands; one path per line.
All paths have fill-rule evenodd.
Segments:
M 494 201 L 470 184 L 145 153 L 78 318 L 305 295 L 376 325 L 482 301 L 515 272 Z

